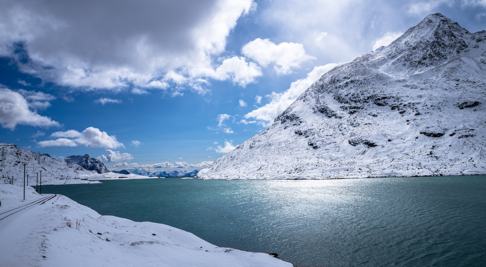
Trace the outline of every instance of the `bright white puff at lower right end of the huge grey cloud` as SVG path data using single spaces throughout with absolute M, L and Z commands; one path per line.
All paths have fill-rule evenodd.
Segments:
M 261 76 L 261 68 L 253 63 L 246 63 L 243 57 L 232 57 L 225 59 L 223 63 L 216 68 L 212 78 L 218 80 L 231 79 L 233 82 L 246 86 L 254 82 L 255 78 Z

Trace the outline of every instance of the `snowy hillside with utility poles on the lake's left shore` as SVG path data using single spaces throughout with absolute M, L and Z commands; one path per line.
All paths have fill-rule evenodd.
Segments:
M 3 162 L 4 161 L 4 162 Z M 0 178 L 3 183 L 23 185 L 24 163 L 28 185 L 35 185 L 37 173 L 42 172 L 42 184 L 88 183 L 98 173 L 87 171 L 77 164 L 58 161 L 49 156 L 37 155 L 30 150 L 20 149 L 14 144 L 0 143 Z M 0 183 L 2 183 L 0 182 Z

